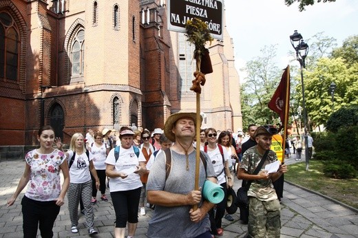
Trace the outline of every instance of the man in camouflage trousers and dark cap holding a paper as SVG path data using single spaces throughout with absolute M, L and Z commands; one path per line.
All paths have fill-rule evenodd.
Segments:
M 249 148 L 242 155 L 238 178 L 253 180 L 247 195 L 249 196 L 249 225 L 247 237 L 280 237 L 280 201 L 277 199 L 273 182 L 286 173 L 286 164 L 280 164 L 276 172 L 268 173 L 266 164 L 277 161 L 277 155 L 270 150 L 272 136 L 277 129 L 270 125 L 257 127 L 253 138 L 257 145 Z M 253 175 L 260 160 L 268 151 L 262 169 Z M 252 164 L 254 166 L 252 166 Z

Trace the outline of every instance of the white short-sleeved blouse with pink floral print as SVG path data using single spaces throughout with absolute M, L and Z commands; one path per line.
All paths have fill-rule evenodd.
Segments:
M 41 202 L 57 199 L 61 192 L 60 165 L 65 158 L 65 153 L 58 149 L 49 154 L 41 154 L 36 149 L 28 152 L 25 161 L 31 172 L 25 196 Z

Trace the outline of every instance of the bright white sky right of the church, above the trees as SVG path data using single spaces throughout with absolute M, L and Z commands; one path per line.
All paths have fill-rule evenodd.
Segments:
M 288 52 L 293 47 L 289 36 L 294 30 L 302 34 L 308 45 L 315 34 L 324 32 L 324 36 L 337 39 L 337 47 L 348 36 L 358 34 L 358 0 L 315 2 L 299 12 L 297 3 L 288 7 L 284 0 L 224 0 L 226 24 L 233 39 L 235 67 L 241 82 L 246 73 L 240 69 L 247 61 L 260 56 L 260 49 L 265 45 L 277 45 L 277 67 L 290 64 Z

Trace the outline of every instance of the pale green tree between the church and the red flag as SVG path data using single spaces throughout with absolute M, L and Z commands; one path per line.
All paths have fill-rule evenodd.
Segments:
M 248 74 L 241 88 L 244 128 L 251 123 L 280 124 L 278 115 L 267 106 L 282 75 L 282 71 L 275 65 L 276 50 L 275 45 L 265 46 L 260 50 L 260 56 L 247 62 L 243 69 Z

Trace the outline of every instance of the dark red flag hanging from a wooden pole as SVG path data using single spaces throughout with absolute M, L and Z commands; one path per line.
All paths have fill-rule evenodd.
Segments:
M 268 108 L 280 115 L 282 125 L 286 125 L 288 120 L 288 105 L 290 104 L 290 68 L 286 67 L 284 74 L 278 85 L 275 94 L 268 102 Z

